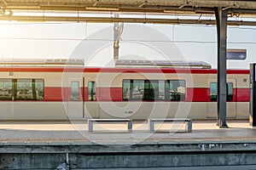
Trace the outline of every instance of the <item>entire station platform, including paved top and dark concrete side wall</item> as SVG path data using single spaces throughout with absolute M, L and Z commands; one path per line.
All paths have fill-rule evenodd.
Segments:
M 150 132 L 148 122 L 134 121 L 132 132 L 121 123 L 89 132 L 85 120 L 2 121 L 0 169 L 256 166 L 256 128 L 247 120 L 227 123 L 194 120 L 192 132 L 167 123 Z

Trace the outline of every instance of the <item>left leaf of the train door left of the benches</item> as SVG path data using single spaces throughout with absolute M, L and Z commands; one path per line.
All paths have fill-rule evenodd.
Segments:
M 83 118 L 83 83 L 80 77 L 71 77 L 68 79 L 69 88 L 64 93 L 67 96 L 67 116 L 69 120 Z

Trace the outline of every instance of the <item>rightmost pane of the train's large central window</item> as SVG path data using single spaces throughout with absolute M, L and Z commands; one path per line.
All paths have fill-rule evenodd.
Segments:
M 169 92 L 171 101 L 183 101 L 186 96 L 186 86 L 183 80 L 169 80 Z

